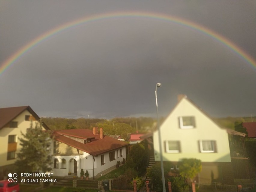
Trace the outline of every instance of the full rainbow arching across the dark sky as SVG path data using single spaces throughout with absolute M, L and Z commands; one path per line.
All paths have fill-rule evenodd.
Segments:
M 26 53 L 28 50 L 32 49 L 35 47 L 38 43 L 42 42 L 43 40 L 59 33 L 62 32 L 65 29 L 69 29 L 73 26 L 82 24 L 82 23 L 87 23 L 87 22 L 92 22 L 96 20 L 102 20 L 102 19 L 111 19 L 111 18 L 122 18 L 122 17 L 141 17 L 141 18 L 148 18 L 148 19 L 154 19 L 154 20 L 164 20 L 164 21 L 169 21 L 173 23 L 177 23 L 182 26 L 189 27 L 191 29 L 195 29 L 198 32 L 202 32 L 213 39 L 221 42 L 224 44 L 224 46 L 228 47 L 229 49 L 233 50 L 237 55 L 245 59 L 251 66 L 256 67 L 256 62 L 255 60 L 244 50 L 242 50 L 240 47 L 238 47 L 236 44 L 234 44 L 232 41 L 228 40 L 224 36 L 204 27 L 201 26 L 197 23 L 194 23 L 189 20 L 184 20 L 179 17 L 174 17 L 166 14 L 159 14 L 159 13 L 151 13 L 151 12 L 111 12 L 111 13 L 105 13 L 105 14 L 98 14 L 98 15 L 93 15 L 89 17 L 83 17 L 78 20 L 73 20 L 71 22 L 65 23 L 63 25 L 57 26 L 54 29 L 51 29 L 50 31 L 47 31 L 43 33 L 42 35 L 36 37 L 32 41 L 30 41 L 28 44 L 24 45 L 21 47 L 17 52 L 15 52 L 13 55 L 11 55 L 7 60 L 5 60 L 2 65 L 0 66 L 0 75 L 8 69 L 17 59 L 19 59 L 24 53 Z

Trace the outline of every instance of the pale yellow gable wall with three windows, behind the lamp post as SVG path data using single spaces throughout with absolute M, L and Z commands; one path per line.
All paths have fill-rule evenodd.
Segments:
M 194 116 L 196 127 L 194 129 L 180 129 L 178 118 L 180 116 Z M 202 111 L 182 99 L 172 113 L 160 126 L 161 144 L 164 161 L 180 161 L 182 158 L 197 158 L 202 162 L 231 162 L 228 134 L 226 130 L 219 128 Z M 154 132 L 155 159 L 160 160 L 158 133 Z M 180 141 L 181 153 L 166 153 L 165 141 Z M 217 145 L 217 153 L 201 153 L 199 140 L 214 140 Z

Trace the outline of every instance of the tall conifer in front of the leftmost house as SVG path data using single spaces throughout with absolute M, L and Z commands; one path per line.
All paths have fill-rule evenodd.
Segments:
M 17 153 L 18 160 L 15 162 L 18 172 L 47 172 L 50 171 L 52 157 L 50 154 L 51 132 L 42 129 L 42 123 L 31 126 L 26 134 L 21 133 L 19 138 L 22 146 Z

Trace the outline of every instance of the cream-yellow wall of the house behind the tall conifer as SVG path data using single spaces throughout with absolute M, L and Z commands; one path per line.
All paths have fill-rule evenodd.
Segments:
M 18 127 L 16 128 L 4 127 L 0 130 L 0 143 L 1 143 L 0 166 L 10 165 L 16 161 L 16 159 L 7 160 L 8 136 L 16 135 L 16 142 L 17 142 L 16 153 L 19 152 L 21 149 L 21 146 L 20 146 L 20 140 L 18 139 L 18 137 L 22 137 L 20 132 L 26 133 L 27 128 L 30 128 L 30 124 L 31 124 L 31 121 L 25 121 L 25 115 L 31 115 L 31 113 L 25 110 L 20 115 L 18 115 L 15 119 L 12 120 L 12 121 L 18 122 Z M 36 122 L 37 122 L 36 120 L 33 121 L 33 127 L 35 127 Z M 17 155 L 15 157 L 17 157 Z

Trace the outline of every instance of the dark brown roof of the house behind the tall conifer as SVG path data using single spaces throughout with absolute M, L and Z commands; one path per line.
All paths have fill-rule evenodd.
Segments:
M 5 125 L 7 125 L 10 121 L 12 121 L 25 110 L 28 110 L 36 120 L 40 120 L 40 117 L 38 117 L 35 111 L 33 111 L 29 106 L 0 108 L 0 129 L 2 129 Z M 43 123 L 42 126 L 49 130 L 49 127 L 47 127 L 46 124 Z

